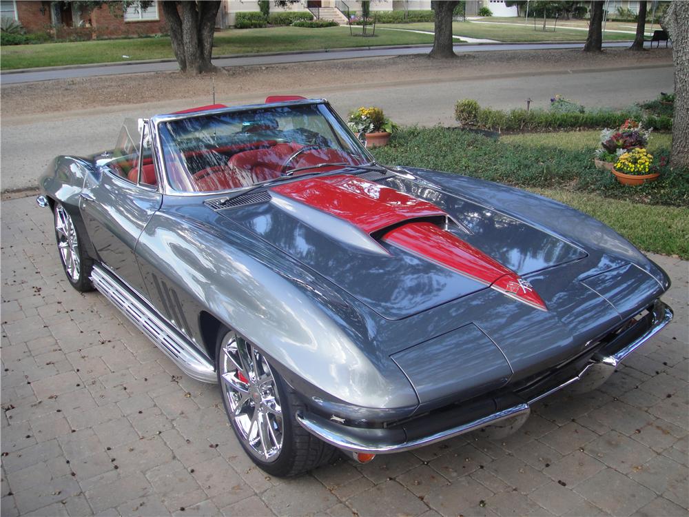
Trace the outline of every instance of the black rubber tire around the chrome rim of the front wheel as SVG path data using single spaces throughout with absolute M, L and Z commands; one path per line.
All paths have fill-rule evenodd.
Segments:
M 229 407 L 227 396 L 227 384 L 221 378 L 223 374 L 223 345 L 227 343 L 228 336 L 236 336 L 234 332 L 225 329 L 218 332 L 218 341 L 216 343 L 216 372 L 218 374 L 218 385 L 222 390 L 223 405 L 227 418 L 232 425 L 234 434 L 239 443 L 247 453 L 247 456 L 263 471 L 271 476 L 289 477 L 298 476 L 309 472 L 321 465 L 333 463 L 339 457 L 339 449 L 325 443 L 316 438 L 306 429 L 301 427 L 296 421 L 296 412 L 304 409 L 304 405 L 297 396 L 294 389 L 291 389 L 285 380 L 280 376 L 275 368 L 271 367 L 271 374 L 274 378 L 274 385 L 278 390 L 280 407 L 282 409 L 282 448 L 276 455 L 276 458 L 270 462 L 258 458 L 256 453 L 245 443 L 242 432 L 235 418 L 232 416 L 232 410 Z M 240 338 L 240 336 L 238 336 Z M 240 338 L 241 339 L 241 338 Z M 260 351 L 259 351 L 260 352 Z M 265 356 L 263 356 L 265 358 Z M 267 361 L 267 358 L 265 358 Z

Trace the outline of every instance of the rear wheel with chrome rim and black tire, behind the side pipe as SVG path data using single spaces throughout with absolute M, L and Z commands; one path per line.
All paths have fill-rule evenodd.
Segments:
M 55 241 L 62 269 L 69 283 L 79 292 L 94 290 L 91 282 L 93 261 L 83 250 L 81 234 L 74 224 L 74 220 L 67 208 L 61 203 L 55 203 L 54 210 Z M 65 249 L 66 248 L 66 249 Z M 78 259 L 76 267 L 73 258 Z

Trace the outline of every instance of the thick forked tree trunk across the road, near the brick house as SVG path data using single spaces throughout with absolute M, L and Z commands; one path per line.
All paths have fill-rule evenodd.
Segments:
M 214 70 L 211 57 L 220 1 L 163 1 L 161 4 L 180 70 L 189 74 Z

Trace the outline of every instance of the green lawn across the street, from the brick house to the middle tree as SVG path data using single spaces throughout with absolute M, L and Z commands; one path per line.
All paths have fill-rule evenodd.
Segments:
M 289 50 L 356 48 L 377 45 L 433 43 L 431 34 L 386 30 L 376 37 L 351 37 L 347 27 L 224 30 L 216 33 L 213 54 L 251 54 Z M 124 58 L 123 56 L 129 56 Z M 172 58 L 169 38 L 112 39 L 40 45 L 3 45 L 1 70 L 86 63 L 126 62 L 136 59 Z

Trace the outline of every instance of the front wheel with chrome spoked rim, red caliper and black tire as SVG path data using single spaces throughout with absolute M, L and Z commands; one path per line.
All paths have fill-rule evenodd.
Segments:
M 303 404 L 258 348 L 236 332 L 221 332 L 216 365 L 232 429 L 258 467 L 296 476 L 337 458 L 335 447 L 297 423 Z

